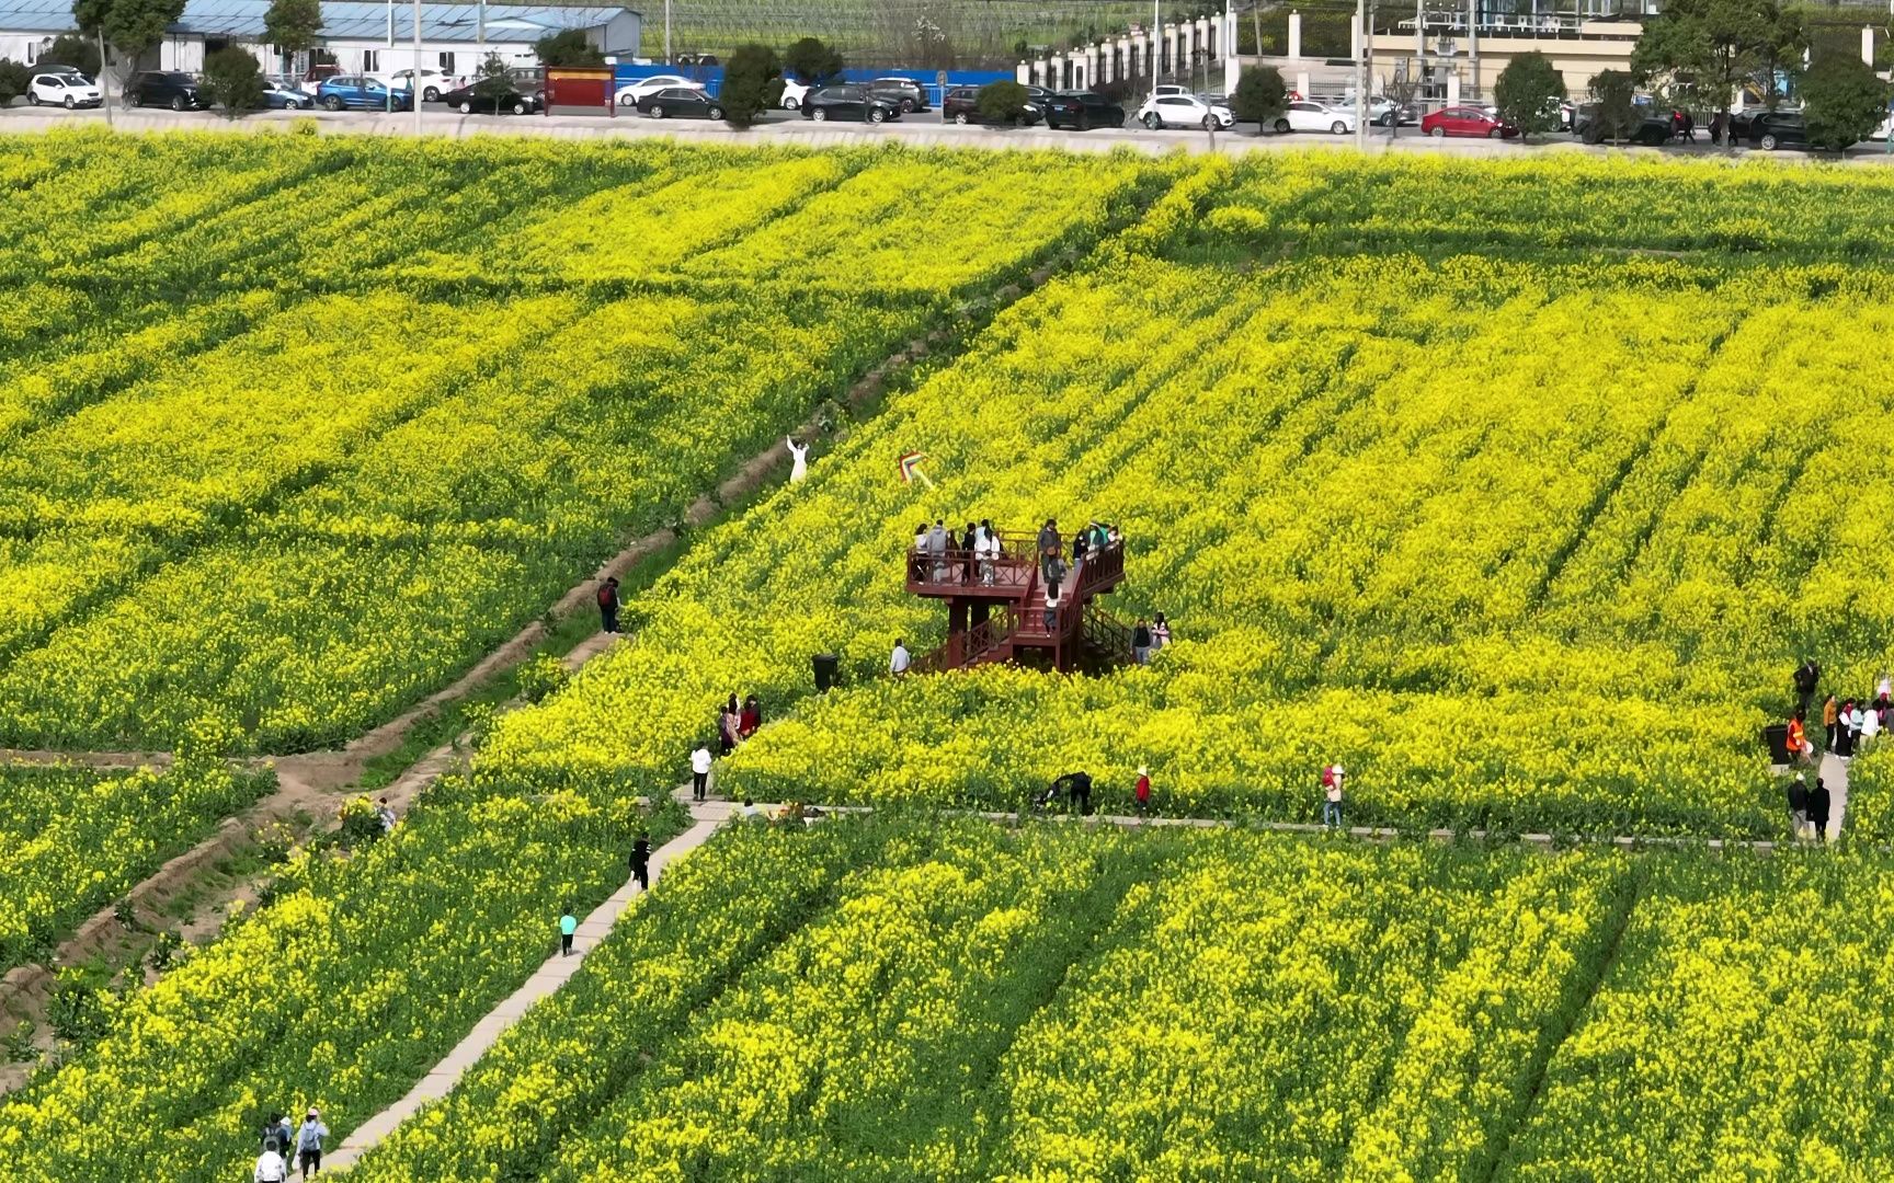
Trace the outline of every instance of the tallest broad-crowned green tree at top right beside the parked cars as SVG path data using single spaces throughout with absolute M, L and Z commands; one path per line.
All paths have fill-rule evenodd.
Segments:
M 1644 23 L 1631 51 L 1638 81 L 1689 81 L 1697 100 L 1727 119 L 1737 87 L 1765 61 L 1786 57 L 1780 38 L 1794 36 L 1769 0 L 1669 0 Z

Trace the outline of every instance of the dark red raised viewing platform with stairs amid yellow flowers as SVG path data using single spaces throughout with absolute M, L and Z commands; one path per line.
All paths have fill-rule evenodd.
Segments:
M 907 591 L 947 600 L 947 640 L 909 666 L 915 672 L 958 670 L 1040 655 L 1055 670 L 1074 670 L 1081 657 L 1131 659 L 1131 628 L 1093 604 L 1125 577 L 1123 539 L 1072 562 L 1059 585 L 1059 609 L 1045 627 L 1045 583 L 1038 538 L 1000 534 L 1000 553 L 907 551 Z

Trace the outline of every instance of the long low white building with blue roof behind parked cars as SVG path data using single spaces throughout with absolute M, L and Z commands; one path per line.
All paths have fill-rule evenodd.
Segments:
M 205 55 L 244 45 L 267 72 L 290 62 L 263 42 L 269 0 L 188 0 L 184 17 L 138 62 L 157 70 L 201 70 Z M 63 32 L 72 32 L 72 0 L 0 0 L 0 57 L 32 62 Z M 604 55 L 638 51 L 640 17 L 625 8 L 544 8 L 521 4 L 422 4 L 420 66 L 472 76 L 498 53 L 508 64 L 536 64 L 534 42 L 578 28 Z M 322 49 L 345 74 L 386 74 L 415 66 L 415 6 L 324 0 Z

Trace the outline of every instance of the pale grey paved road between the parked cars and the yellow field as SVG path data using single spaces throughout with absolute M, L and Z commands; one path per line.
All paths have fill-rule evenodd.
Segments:
M 117 108 L 108 112 L 102 110 L 45 110 L 45 108 L 27 108 L 13 106 L 11 110 L 0 112 L 0 131 L 11 132 L 38 132 L 53 131 L 63 127 L 104 127 L 106 121 L 114 127 L 125 131 L 286 131 L 294 125 L 313 123 L 324 134 L 413 134 L 415 115 L 411 112 L 396 114 L 375 114 L 375 112 L 256 112 L 241 119 L 225 119 L 212 112 L 170 112 L 138 108 L 125 110 Z M 1413 151 L 1430 155 L 1517 155 L 1517 153 L 1547 153 L 1547 151 L 1581 151 L 1581 153 L 1606 153 L 1606 151 L 1625 151 L 1636 155 L 1678 155 L 1678 157 L 1742 157 L 1742 155 L 1769 155 L 1773 159 L 1826 159 L 1833 161 L 1833 153 L 1799 153 L 1799 151 L 1775 151 L 1760 153 L 1748 148 L 1716 148 L 1699 134 L 1697 144 L 1667 144 L 1663 148 L 1608 148 L 1608 146 L 1585 146 L 1578 144 L 1568 134 L 1553 134 L 1534 144 L 1521 146 L 1515 140 L 1481 140 L 1481 138 L 1445 138 L 1436 140 L 1422 136 L 1413 127 L 1403 127 L 1402 134 L 1394 140 L 1388 138 L 1385 129 L 1373 129 L 1377 134 L 1369 136 L 1369 151 Z M 761 121 L 748 129 L 737 129 L 724 123 L 710 123 L 703 119 L 680 121 L 680 119 L 648 119 L 638 114 L 617 108 L 616 115 L 595 115 L 595 114 L 570 114 L 559 112 L 551 115 L 462 115 L 439 106 L 424 106 L 420 112 L 420 132 L 438 136 L 472 136 L 472 134 L 538 134 L 538 136 L 557 136 L 557 138 L 593 138 L 593 136 L 672 136 L 682 140 L 708 140 L 722 144 L 754 142 L 754 144 L 803 144 L 803 146 L 822 146 L 822 144 L 871 144 L 871 142 L 902 142 L 911 146 L 977 146 L 977 148 L 1017 148 L 1017 150 L 1040 150 L 1040 148 L 1064 148 L 1078 151 L 1110 151 L 1114 148 L 1131 148 L 1136 151 L 1224 151 L 1224 153 L 1244 153 L 1244 151 L 1280 151 L 1297 148 L 1352 148 L 1354 136 L 1335 136 L 1320 132 L 1290 132 L 1290 134 L 1252 134 L 1248 125 L 1235 132 L 1216 132 L 1210 136 L 1203 131 L 1186 129 L 1165 129 L 1148 131 L 1136 123 L 1127 123 L 1121 129 L 1091 129 L 1091 131 L 1047 131 L 1044 127 L 979 127 L 979 125 L 956 125 L 947 123 L 939 117 L 938 110 L 915 112 L 903 119 L 881 125 L 854 125 L 854 123 L 814 123 L 803 119 L 795 112 L 765 112 Z M 1845 155 L 1850 163 L 1886 163 L 1890 161 L 1886 153 L 1886 144 L 1869 142 L 1858 144 Z

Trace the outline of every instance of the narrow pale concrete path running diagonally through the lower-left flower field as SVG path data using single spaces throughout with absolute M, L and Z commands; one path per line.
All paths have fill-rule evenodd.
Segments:
M 665 867 L 684 857 L 691 850 L 703 846 L 716 829 L 737 814 L 737 806 L 727 801 L 706 801 L 691 806 L 691 827 L 682 835 L 670 839 L 663 846 L 652 852 L 652 880 L 655 882 Z M 509 1026 L 519 1022 L 519 1018 L 542 998 L 559 990 L 578 973 L 578 967 L 585 963 L 585 954 L 604 941 L 606 933 L 612 931 L 612 924 L 617 922 L 619 914 L 631 905 L 633 897 L 638 895 L 636 880 L 627 878 L 625 886 L 612 893 L 602 905 L 593 909 L 585 920 L 580 922 L 580 931 L 572 939 L 572 956 L 553 954 L 540 965 L 527 984 L 506 998 L 498 1007 L 487 1013 L 474 1030 L 468 1032 L 466 1039 L 455 1045 L 439 1064 L 428 1069 L 424 1075 L 402 1100 L 388 1105 L 375 1117 L 367 1119 L 343 1143 L 330 1155 L 324 1157 L 322 1166 L 330 1170 L 341 1170 L 354 1164 L 369 1147 L 386 1138 L 398 1124 L 407 1121 L 417 1109 L 428 1102 L 447 1096 L 447 1090 L 455 1086 L 468 1068 L 479 1060 L 489 1047 L 500 1039 L 500 1033 Z M 553 929 L 547 927 L 547 933 Z M 551 941 L 551 935 L 547 937 Z

